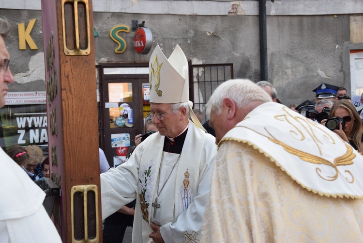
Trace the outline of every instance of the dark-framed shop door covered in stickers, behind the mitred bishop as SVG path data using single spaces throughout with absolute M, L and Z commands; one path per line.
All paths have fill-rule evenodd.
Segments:
M 105 64 L 98 68 L 100 147 L 111 167 L 125 162 L 150 112 L 149 63 Z

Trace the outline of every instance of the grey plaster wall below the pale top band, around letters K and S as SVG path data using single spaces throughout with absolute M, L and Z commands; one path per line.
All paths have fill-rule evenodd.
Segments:
M 11 70 L 19 83 L 14 84 L 10 92 L 24 91 L 24 87 L 29 91 L 45 90 L 44 61 L 39 60 L 43 54 L 40 53 L 43 52 L 41 12 L 0 9 L 0 16 L 5 16 L 15 28 L 7 46 Z M 350 44 L 349 16 L 267 17 L 269 81 L 275 85 L 278 98 L 284 104 L 313 99 L 312 90 L 321 82 L 344 86 L 350 91 L 349 49 L 363 49 L 363 46 Z M 31 36 L 38 50 L 29 47 L 19 50 L 17 24 L 25 22 L 27 25 L 35 17 L 37 20 Z M 95 12 L 93 17 L 99 33 L 95 37 L 96 63 L 149 61 L 151 53 L 139 55 L 133 50 L 134 32 L 120 34 L 127 43 L 124 53 L 114 52 L 118 45 L 109 36 L 115 25 L 131 28 L 131 20 L 138 19 L 139 22 L 145 21 L 146 27 L 151 29 L 153 47 L 159 44 L 166 56 L 178 44 L 194 64 L 233 63 L 235 78 L 260 80 L 258 16 Z M 42 67 L 43 76 L 39 69 Z

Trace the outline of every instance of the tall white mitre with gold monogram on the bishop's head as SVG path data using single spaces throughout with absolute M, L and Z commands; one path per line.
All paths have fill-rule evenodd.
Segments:
M 194 124 L 204 130 L 192 111 L 193 102 L 189 101 L 188 61 L 179 45 L 166 58 L 159 45 L 151 54 L 149 62 L 150 102 L 175 104 L 188 102 Z

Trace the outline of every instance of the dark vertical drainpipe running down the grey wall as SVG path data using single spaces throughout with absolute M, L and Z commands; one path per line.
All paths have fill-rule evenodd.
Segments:
M 260 60 L 260 80 L 269 81 L 267 72 L 267 30 L 266 30 L 266 0 L 258 1 L 259 19 L 259 60 Z

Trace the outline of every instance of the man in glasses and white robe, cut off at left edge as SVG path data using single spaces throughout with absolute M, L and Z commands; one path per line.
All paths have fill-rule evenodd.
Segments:
M 9 69 L 9 52 L 4 37 L 9 23 L 0 18 L 0 107 L 5 105 L 8 84 L 14 82 Z M 61 242 L 43 201 L 45 193 L 5 152 L 0 149 L 0 242 Z

